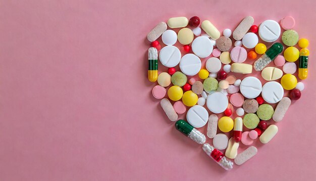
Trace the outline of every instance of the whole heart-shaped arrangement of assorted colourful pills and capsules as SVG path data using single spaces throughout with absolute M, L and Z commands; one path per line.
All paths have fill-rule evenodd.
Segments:
M 175 17 L 147 34 L 151 42 L 148 80 L 158 83 L 152 89 L 153 97 L 161 100 L 167 117 L 176 121 L 176 129 L 203 144 L 203 151 L 226 170 L 233 168 L 229 159 L 241 165 L 256 155 L 257 148 L 250 146 L 256 139 L 269 143 L 278 132 L 275 123 L 301 97 L 304 84 L 294 73 L 298 68 L 298 78 L 307 78 L 308 40 L 299 39 L 294 25 L 291 16 L 280 24 L 266 20 L 259 26 L 247 16 L 234 31 L 224 29 L 221 36 L 208 20 Z M 283 44 L 275 42 L 280 36 Z M 159 73 L 159 62 L 168 67 L 167 72 Z M 245 76 L 253 71 L 260 71 L 266 83 Z M 178 120 L 184 113 L 186 121 Z M 205 135 L 197 129 L 206 124 L 213 146 L 205 143 Z M 225 133 L 231 131 L 229 138 L 231 134 Z M 238 153 L 240 143 L 250 147 Z

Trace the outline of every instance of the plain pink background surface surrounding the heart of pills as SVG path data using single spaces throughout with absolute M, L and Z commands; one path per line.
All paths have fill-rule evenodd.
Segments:
M 1 1 L 0 180 L 315 179 L 314 1 L 134 2 Z M 302 98 L 231 171 L 174 128 L 146 77 L 146 34 L 194 15 L 221 32 L 292 15 L 310 40 Z

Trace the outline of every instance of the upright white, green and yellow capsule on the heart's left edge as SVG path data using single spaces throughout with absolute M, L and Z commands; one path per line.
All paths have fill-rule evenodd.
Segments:
M 148 80 L 155 82 L 158 78 L 158 51 L 154 47 L 148 49 Z

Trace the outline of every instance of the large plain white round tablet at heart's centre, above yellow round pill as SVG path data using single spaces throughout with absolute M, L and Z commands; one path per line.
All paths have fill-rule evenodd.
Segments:
M 206 106 L 215 114 L 222 113 L 228 106 L 228 99 L 224 93 L 215 92 L 207 96 Z

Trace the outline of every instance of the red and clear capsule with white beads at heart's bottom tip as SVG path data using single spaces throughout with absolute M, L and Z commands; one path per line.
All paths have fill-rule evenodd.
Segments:
M 203 151 L 225 170 L 231 170 L 233 168 L 234 163 L 227 160 L 221 151 L 210 146 L 208 143 L 203 145 Z

